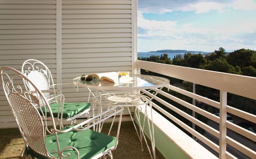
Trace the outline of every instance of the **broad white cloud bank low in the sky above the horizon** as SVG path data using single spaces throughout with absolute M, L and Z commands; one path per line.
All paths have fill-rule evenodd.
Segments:
M 143 14 L 138 16 L 138 27 L 146 30 L 138 33 L 139 51 L 155 51 L 157 49 L 187 49 L 214 51 L 219 47 L 226 50 L 239 48 L 256 49 L 255 43 L 243 44 L 243 34 L 255 34 L 256 21 L 239 21 L 239 23 L 216 24 L 205 27 L 195 23 L 180 26 L 176 21 L 147 20 Z M 147 41 L 147 42 L 146 42 Z

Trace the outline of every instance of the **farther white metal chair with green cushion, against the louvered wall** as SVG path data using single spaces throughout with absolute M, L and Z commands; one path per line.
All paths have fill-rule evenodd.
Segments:
M 83 114 L 89 116 L 91 103 L 89 101 L 65 102 L 65 96 L 56 88 L 56 86 L 61 85 L 61 83 L 54 83 L 51 71 L 43 62 L 34 59 L 26 60 L 22 64 L 21 72 L 44 93 L 44 96 L 51 106 L 53 115 L 59 122 L 61 128 L 63 128 L 63 122 L 71 121 L 71 124 L 73 124 L 78 116 Z M 27 81 L 24 82 L 26 88 L 33 91 L 34 88 L 31 87 Z

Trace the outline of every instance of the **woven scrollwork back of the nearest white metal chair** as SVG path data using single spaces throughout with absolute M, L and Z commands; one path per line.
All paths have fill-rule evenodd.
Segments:
M 23 80 L 26 80 L 27 84 L 33 87 L 34 90 L 27 90 L 22 83 Z M 51 118 L 52 115 L 46 116 L 47 114 L 42 112 L 42 109 L 49 109 L 50 107 L 45 102 L 44 95 L 36 89 L 35 85 L 29 79 L 12 68 L 6 67 L 1 69 L 1 82 L 26 147 L 30 147 L 44 156 L 49 156 L 45 147 L 47 132 L 45 125 L 47 123 L 44 119 Z M 38 109 L 37 107 L 40 108 Z M 47 122 L 50 122 L 50 120 Z M 54 124 L 54 122 L 51 124 Z

